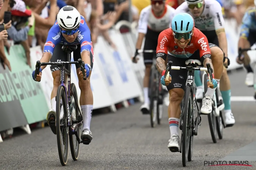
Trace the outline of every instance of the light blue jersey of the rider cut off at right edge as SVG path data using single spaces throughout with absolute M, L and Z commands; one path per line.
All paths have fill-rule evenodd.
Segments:
M 241 37 L 248 38 L 249 32 L 256 31 L 256 7 L 249 8 L 244 14 L 241 26 Z

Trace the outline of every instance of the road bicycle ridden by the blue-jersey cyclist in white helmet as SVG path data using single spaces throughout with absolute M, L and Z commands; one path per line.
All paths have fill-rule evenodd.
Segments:
M 83 124 L 83 116 L 78 104 L 77 92 L 74 83 L 71 83 L 71 64 L 79 64 L 83 72 L 83 79 L 85 78 L 84 62 L 79 59 L 78 61 L 71 62 L 71 52 L 75 51 L 77 46 L 62 46 L 62 50 L 68 53 L 68 62 L 49 62 L 40 63 L 37 61 L 35 66 L 35 78 L 39 74 L 41 66 L 57 64 L 60 68 L 60 85 L 58 87 L 56 96 L 56 120 L 50 121 L 50 124 L 56 126 L 57 131 L 57 145 L 59 152 L 59 159 L 62 166 L 68 162 L 68 144 L 70 142 L 70 151 L 73 160 L 77 160 L 79 156 L 79 144 L 87 142 L 80 141 L 80 126 Z M 65 65 L 68 65 L 68 69 Z M 65 73 L 68 77 L 68 88 L 66 86 Z M 63 146 L 62 146 L 63 144 Z

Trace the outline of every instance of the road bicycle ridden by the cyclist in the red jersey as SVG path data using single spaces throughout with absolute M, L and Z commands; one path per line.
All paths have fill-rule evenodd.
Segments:
M 208 71 L 209 82 L 213 83 L 212 78 L 212 68 L 209 63 L 206 64 L 207 68 L 201 67 L 199 60 L 187 60 L 186 67 L 172 66 L 172 61 L 167 64 L 164 79 L 169 79 L 169 70 L 188 70 L 187 86 L 185 89 L 185 95 L 182 101 L 181 117 L 180 117 L 180 130 L 181 133 L 181 143 L 180 143 L 180 153 L 182 153 L 182 165 L 185 167 L 187 160 L 191 161 L 193 155 L 193 137 L 198 133 L 198 128 L 201 125 L 201 113 L 198 109 L 198 104 L 195 97 L 195 78 L 194 70 Z M 195 117 L 195 107 L 197 107 L 197 117 Z M 170 148 L 170 151 L 173 151 Z

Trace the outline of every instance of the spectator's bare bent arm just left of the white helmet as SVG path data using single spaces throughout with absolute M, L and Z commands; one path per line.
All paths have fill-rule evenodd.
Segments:
M 57 0 L 50 0 L 51 1 L 51 10 L 50 10 L 50 14 L 49 17 L 47 19 L 44 19 L 42 17 L 40 17 L 40 15 L 38 15 L 37 13 L 33 12 L 34 16 L 35 16 L 35 23 L 38 25 L 40 25 L 40 27 L 44 27 L 44 28 L 51 28 L 56 20 L 56 16 L 57 16 Z

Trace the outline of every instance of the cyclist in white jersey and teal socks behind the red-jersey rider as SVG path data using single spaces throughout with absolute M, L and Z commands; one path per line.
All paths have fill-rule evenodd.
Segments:
M 175 14 L 183 12 L 193 16 L 195 20 L 195 27 L 207 37 L 209 43 L 215 44 L 223 50 L 225 55 L 224 66 L 228 66 L 228 45 L 224 27 L 225 23 L 222 15 L 222 7 L 220 3 L 216 0 L 185 0 L 185 2 L 176 8 Z M 202 88 L 200 71 L 195 71 L 195 83 L 197 86 L 196 99 L 202 99 L 203 103 L 205 99 L 207 99 L 207 96 L 204 96 L 203 98 L 204 89 Z M 222 93 L 223 102 L 225 104 L 225 123 L 227 126 L 232 126 L 235 123 L 235 119 L 231 112 L 230 81 L 227 69 L 225 67 L 223 68 L 220 83 L 220 90 Z M 210 88 L 208 89 L 211 90 Z M 212 97 L 213 96 L 210 96 L 210 98 Z

